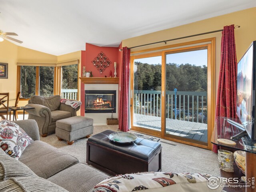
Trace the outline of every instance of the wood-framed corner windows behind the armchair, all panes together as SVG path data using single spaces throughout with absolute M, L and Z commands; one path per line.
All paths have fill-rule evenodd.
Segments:
M 78 64 L 79 60 L 59 62 L 57 64 L 17 63 L 18 90 L 20 99 L 28 100 L 33 95 L 52 96 L 78 100 Z

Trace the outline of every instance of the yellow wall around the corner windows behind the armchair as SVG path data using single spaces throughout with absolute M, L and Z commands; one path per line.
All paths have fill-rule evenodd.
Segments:
M 9 92 L 10 98 L 16 98 L 17 62 L 56 64 L 57 62 L 70 61 L 75 59 L 79 59 L 79 61 L 81 61 L 81 51 L 55 56 L 17 46 L 7 40 L 4 40 L 3 42 L 0 42 L 0 62 L 8 63 L 8 79 L 0 79 L 0 92 Z M 80 71 L 78 74 L 80 74 Z M 78 85 L 80 86 L 80 83 Z M 27 103 L 27 101 L 20 100 L 19 106 L 25 106 Z M 15 100 L 10 101 L 9 103 L 9 105 L 12 106 L 14 104 Z

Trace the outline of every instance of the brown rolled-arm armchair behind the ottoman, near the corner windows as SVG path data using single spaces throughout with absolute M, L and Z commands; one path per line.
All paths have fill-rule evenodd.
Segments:
M 60 119 L 76 116 L 76 112 L 80 109 L 72 108 L 66 104 L 60 103 L 60 96 L 32 96 L 28 100 L 26 106 L 34 107 L 28 109 L 28 119 L 36 120 L 39 133 L 42 137 L 46 137 L 48 133 L 55 132 L 56 121 Z

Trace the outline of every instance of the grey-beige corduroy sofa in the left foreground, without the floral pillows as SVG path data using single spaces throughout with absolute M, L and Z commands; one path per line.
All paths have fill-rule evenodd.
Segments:
M 80 163 L 74 156 L 40 141 L 35 120 L 15 123 L 34 141 L 25 148 L 19 160 L 8 156 L 0 148 L 1 192 L 91 192 L 97 183 L 109 177 Z

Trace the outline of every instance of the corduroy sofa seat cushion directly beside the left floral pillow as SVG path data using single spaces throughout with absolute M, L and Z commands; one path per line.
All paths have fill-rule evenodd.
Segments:
M 79 162 L 77 158 L 42 141 L 32 142 L 19 160 L 45 179 Z

